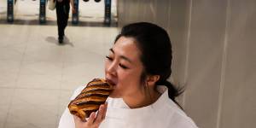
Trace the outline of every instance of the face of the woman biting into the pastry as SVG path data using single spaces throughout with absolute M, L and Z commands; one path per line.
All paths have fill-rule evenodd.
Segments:
M 113 84 L 111 97 L 134 97 L 142 90 L 143 63 L 133 38 L 120 37 L 109 49 L 105 62 L 105 79 Z

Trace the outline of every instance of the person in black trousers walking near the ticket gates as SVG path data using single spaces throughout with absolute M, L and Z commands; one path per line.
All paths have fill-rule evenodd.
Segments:
M 69 15 L 69 3 L 71 3 L 73 13 L 75 12 L 73 6 L 73 0 L 56 0 L 56 15 L 58 24 L 58 35 L 59 43 L 63 43 L 63 37 L 65 35 L 65 28 L 67 26 L 68 15 Z

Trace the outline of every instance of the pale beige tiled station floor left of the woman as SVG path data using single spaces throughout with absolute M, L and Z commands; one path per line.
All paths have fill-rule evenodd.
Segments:
M 3 3 L 0 0 L 2 20 Z M 102 14 L 95 16 L 99 4 L 90 2 L 84 17 L 101 22 Z M 0 23 L 0 128 L 57 127 L 73 90 L 104 77 L 105 55 L 118 33 L 115 26 L 69 24 L 64 44 L 58 44 L 57 26 L 30 24 L 29 18 L 38 17 L 29 10 L 16 14 L 26 24 Z

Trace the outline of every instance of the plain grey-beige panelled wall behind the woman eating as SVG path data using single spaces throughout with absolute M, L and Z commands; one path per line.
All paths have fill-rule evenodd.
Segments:
M 119 26 L 165 27 L 174 50 L 179 97 L 202 128 L 256 126 L 256 1 L 119 0 Z

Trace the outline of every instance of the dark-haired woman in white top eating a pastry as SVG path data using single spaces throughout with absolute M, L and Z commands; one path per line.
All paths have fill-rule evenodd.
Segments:
M 175 101 L 178 90 L 167 81 L 171 64 L 172 45 L 164 29 L 146 22 L 124 26 L 106 56 L 105 79 L 114 85 L 108 105 L 86 122 L 66 109 L 59 127 L 196 128 Z

